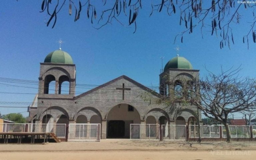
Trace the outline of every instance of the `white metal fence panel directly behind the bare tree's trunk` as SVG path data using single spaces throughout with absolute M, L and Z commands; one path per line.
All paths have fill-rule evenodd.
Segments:
M 250 126 L 229 126 L 231 138 L 250 138 Z M 222 137 L 227 137 L 225 126 L 222 126 Z

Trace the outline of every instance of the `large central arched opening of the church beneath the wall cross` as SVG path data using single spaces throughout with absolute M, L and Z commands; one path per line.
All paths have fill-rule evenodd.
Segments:
M 130 124 L 140 124 L 136 108 L 128 104 L 114 106 L 107 114 L 107 138 L 129 138 Z

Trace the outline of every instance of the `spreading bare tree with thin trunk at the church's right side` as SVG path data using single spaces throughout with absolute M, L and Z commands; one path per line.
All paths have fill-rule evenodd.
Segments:
M 225 126 L 227 142 L 231 142 L 229 115 L 256 109 L 256 83 L 254 79 L 239 77 L 240 70 L 240 67 L 227 71 L 221 69 L 218 75 L 209 72 L 205 78 L 184 84 L 181 90 L 174 90 L 173 95 L 158 99 L 158 102 L 196 106 L 206 117 Z

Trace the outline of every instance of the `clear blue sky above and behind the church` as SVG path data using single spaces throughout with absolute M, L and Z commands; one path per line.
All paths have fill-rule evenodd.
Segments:
M 145 2 L 144 2 L 145 3 Z M 100 5 L 101 1 L 99 1 Z M 179 26 L 179 12 L 168 16 L 166 12 L 149 14 L 150 4 L 144 4 L 137 18 L 137 31 L 134 27 L 124 27 L 113 21 L 97 30 L 81 12 L 80 19 L 74 22 L 74 15 L 68 14 L 68 3 L 58 14 L 57 23 L 52 29 L 46 27 L 49 17 L 40 13 L 41 1 L 3 1 L 0 5 L 0 77 L 38 80 L 40 62 L 51 51 L 57 50 L 57 41 L 61 38 L 65 43 L 62 50 L 68 52 L 77 70 L 77 84 L 101 85 L 121 75 L 126 75 L 146 86 L 157 86 L 161 69 L 180 48 L 179 55 L 188 59 L 194 69 L 200 70 L 203 77 L 208 70 L 219 73 L 221 65 L 224 69 L 242 66 L 240 75 L 255 77 L 256 46 L 251 41 L 250 48 L 242 43 L 242 36 L 248 31 L 248 16 L 244 9 L 240 14 L 239 25 L 233 25 L 235 45 L 219 48 L 221 37 L 211 36 L 211 29 L 203 30 L 204 38 L 199 29 L 193 34 L 185 34 L 183 43 L 180 38 L 173 44 L 177 34 L 184 30 Z M 100 10 L 100 7 L 98 7 Z M 96 8 L 97 9 L 97 8 Z M 99 11 L 98 11 L 99 16 Z M 124 22 L 128 19 L 121 19 Z M 251 37 L 250 37 L 251 38 Z M 4 85 L 0 82 L 0 92 L 37 93 L 37 89 Z M 9 84 L 9 83 L 8 83 Z M 24 85 L 23 85 L 24 86 Z M 37 87 L 37 86 L 34 86 Z M 88 89 L 79 89 L 85 92 Z M 32 102 L 33 94 L 3 94 L 1 102 Z M 7 106 L 7 105 L 1 105 Z M 27 105 L 16 105 L 27 106 Z M 0 108 L 1 114 L 24 112 L 25 108 Z

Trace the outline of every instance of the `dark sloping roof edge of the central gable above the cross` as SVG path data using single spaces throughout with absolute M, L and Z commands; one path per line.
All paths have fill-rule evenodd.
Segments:
M 157 92 L 155 92 L 154 90 L 152 90 L 152 89 L 150 89 L 150 88 L 148 88 L 148 87 L 146 87 L 146 86 L 144 86 L 144 85 L 142 85 L 142 84 L 136 82 L 135 80 L 133 80 L 133 79 L 131 79 L 131 78 L 125 76 L 125 75 L 122 75 L 122 76 L 117 77 L 117 78 L 115 78 L 115 79 L 113 79 L 113 80 L 111 80 L 111 81 L 109 81 L 109 82 L 107 82 L 107 83 L 104 83 L 104 84 L 102 84 L 102 85 L 100 85 L 100 86 L 98 86 L 98 87 L 96 87 L 96 88 L 93 88 L 93 89 L 91 89 L 91 90 L 89 90 L 89 91 L 87 91 L 87 92 L 84 92 L 84 93 L 82 93 L 82 94 L 80 94 L 80 95 L 78 95 L 78 96 L 75 96 L 74 99 L 81 98 L 81 97 L 83 97 L 83 96 L 85 96 L 85 95 L 87 95 L 87 94 L 90 94 L 90 93 L 92 93 L 92 92 L 94 92 L 94 91 L 96 91 L 96 90 L 98 90 L 98 89 L 100 89 L 100 88 L 103 88 L 103 87 L 105 87 L 105 86 L 108 86 L 108 85 L 110 85 L 110 84 L 112 84 L 112 83 L 114 83 L 114 82 L 116 82 L 116 81 L 118 81 L 118 80 L 120 80 L 120 79 L 125 79 L 125 80 L 127 80 L 127 81 L 133 83 L 134 85 L 140 87 L 141 89 L 143 89 L 143 90 L 145 90 L 145 91 L 147 91 L 147 92 L 152 93 L 153 95 L 155 95 L 155 96 L 157 96 L 157 97 L 160 96 L 160 94 L 157 93 Z

